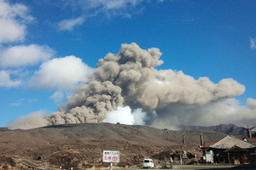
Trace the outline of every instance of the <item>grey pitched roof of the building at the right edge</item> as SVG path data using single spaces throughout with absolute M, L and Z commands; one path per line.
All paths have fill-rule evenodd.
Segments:
M 235 145 L 242 149 L 256 148 L 256 145 L 250 144 L 241 139 L 236 139 L 231 136 L 227 136 L 224 139 L 219 140 L 217 143 L 210 145 L 209 147 L 215 149 L 230 149 Z

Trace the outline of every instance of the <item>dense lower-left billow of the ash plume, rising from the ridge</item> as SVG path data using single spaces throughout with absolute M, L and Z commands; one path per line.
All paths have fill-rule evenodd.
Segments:
M 121 88 L 112 82 L 91 80 L 79 87 L 76 94 L 67 97 L 63 111 L 54 112 L 48 117 L 50 124 L 80 122 L 102 122 L 108 111 L 122 106 Z

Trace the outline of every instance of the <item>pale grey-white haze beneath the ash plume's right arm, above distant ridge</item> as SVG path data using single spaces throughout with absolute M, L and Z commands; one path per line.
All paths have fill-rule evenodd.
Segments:
M 207 105 L 171 105 L 165 111 L 158 112 L 153 126 L 212 126 L 222 123 L 244 126 L 255 122 L 256 99 L 247 99 L 247 105 L 241 105 L 238 100 L 229 98 L 219 99 Z

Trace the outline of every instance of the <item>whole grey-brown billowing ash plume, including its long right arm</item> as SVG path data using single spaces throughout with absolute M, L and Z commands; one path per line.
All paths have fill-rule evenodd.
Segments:
M 160 55 L 158 48 L 123 44 L 118 54 L 99 59 L 90 80 L 67 97 L 66 106 L 49 116 L 49 123 L 102 122 L 109 111 L 123 105 L 151 113 L 172 104 L 207 104 L 245 91 L 232 79 L 214 84 L 207 77 L 195 80 L 182 71 L 156 70 L 163 64 Z

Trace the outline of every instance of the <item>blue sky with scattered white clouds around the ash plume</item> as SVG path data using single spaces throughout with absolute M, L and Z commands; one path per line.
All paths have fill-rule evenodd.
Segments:
M 253 0 L 0 0 L 0 127 L 57 111 L 98 59 L 131 42 L 160 48 L 158 69 L 233 78 L 246 87 L 238 105 L 247 105 L 256 99 L 255 8 Z M 58 72 L 67 63 L 73 72 Z

